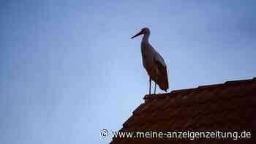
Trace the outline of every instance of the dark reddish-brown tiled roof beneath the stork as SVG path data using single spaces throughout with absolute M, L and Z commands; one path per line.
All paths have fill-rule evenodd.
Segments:
M 146 95 L 145 102 L 133 111 L 119 132 L 251 132 L 244 143 L 255 143 L 256 77 L 249 80 L 227 81 L 222 84 L 199 86 L 171 91 L 167 94 Z M 119 143 L 193 143 L 186 139 L 113 138 Z M 206 141 L 204 141 L 206 140 Z M 230 140 L 230 139 L 218 139 Z M 244 139 L 245 140 L 245 139 Z M 236 143 L 235 140 L 233 142 Z M 200 139 L 196 143 L 216 143 Z M 239 142 L 241 143 L 241 141 Z

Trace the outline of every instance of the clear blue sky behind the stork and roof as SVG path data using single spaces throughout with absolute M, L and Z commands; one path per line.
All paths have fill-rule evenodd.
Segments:
M 256 1 L 1 1 L 0 143 L 109 143 L 148 93 L 143 27 L 169 92 L 256 77 Z M 157 88 L 157 93 L 163 93 Z

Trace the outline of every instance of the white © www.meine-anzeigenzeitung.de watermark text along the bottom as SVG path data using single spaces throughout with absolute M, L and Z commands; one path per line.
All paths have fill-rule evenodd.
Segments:
M 212 132 L 196 132 L 196 131 L 184 131 L 184 132 L 109 132 L 108 129 L 102 129 L 100 132 L 100 137 L 105 139 L 107 137 L 112 138 L 148 138 L 148 139 L 161 139 L 161 138 L 170 138 L 170 139 L 189 139 L 189 140 L 198 140 L 198 139 L 230 139 L 230 140 L 241 140 L 249 139 L 252 137 L 251 132 L 223 132 L 223 131 L 212 131 Z

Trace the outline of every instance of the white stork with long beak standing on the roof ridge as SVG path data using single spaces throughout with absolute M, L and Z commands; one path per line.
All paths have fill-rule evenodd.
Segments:
M 143 67 L 146 69 L 149 76 L 149 96 L 151 96 L 151 80 L 154 81 L 154 94 L 156 94 L 156 84 L 164 91 L 169 88 L 168 77 L 167 77 L 167 67 L 164 58 L 157 53 L 150 43 L 148 38 L 150 31 L 148 28 L 143 28 L 138 34 L 135 34 L 131 39 L 143 34 L 141 41 L 141 54 Z

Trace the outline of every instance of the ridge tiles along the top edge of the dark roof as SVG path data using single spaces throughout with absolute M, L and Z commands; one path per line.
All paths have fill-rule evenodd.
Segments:
M 146 99 L 165 99 L 166 96 L 170 96 L 170 95 L 175 96 L 175 94 L 181 93 L 181 92 L 189 93 L 191 91 L 202 90 L 205 88 L 217 88 L 217 87 L 222 87 L 222 86 L 236 85 L 236 84 L 240 84 L 240 83 L 253 82 L 253 81 L 256 81 L 256 77 L 253 77 L 252 79 L 230 80 L 230 81 L 226 81 L 224 83 L 215 83 L 215 84 L 210 84 L 210 85 L 197 86 L 197 88 L 177 89 L 177 90 L 170 91 L 169 93 L 151 94 L 151 96 L 149 94 L 146 94 L 143 99 L 145 99 L 145 100 Z

